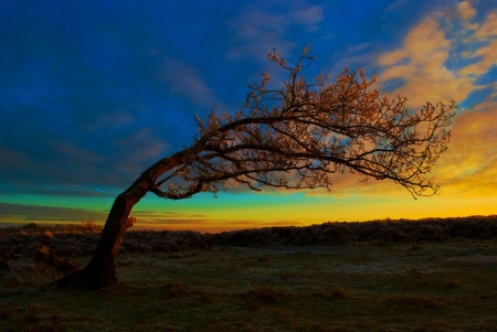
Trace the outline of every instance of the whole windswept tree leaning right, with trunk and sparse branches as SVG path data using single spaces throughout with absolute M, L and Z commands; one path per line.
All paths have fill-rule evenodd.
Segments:
M 281 89 L 269 76 L 250 85 L 235 114 L 197 117 L 193 143 L 154 163 L 114 201 L 96 251 L 86 267 L 56 286 L 91 289 L 116 279 L 114 260 L 125 232 L 135 223 L 133 206 L 151 192 L 182 200 L 201 192 L 216 194 L 232 183 L 260 191 L 263 186 L 316 189 L 331 185 L 330 175 L 346 170 L 363 179 L 391 180 L 413 196 L 432 195 L 438 186 L 426 178 L 447 149 L 456 105 L 427 103 L 419 111 L 408 98 L 382 96 L 362 69 L 347 69 L 336 83 L 302 74 L 314 57 L 306 47 L 295 66 L 276 50 L 267 54 L 289 74 Z

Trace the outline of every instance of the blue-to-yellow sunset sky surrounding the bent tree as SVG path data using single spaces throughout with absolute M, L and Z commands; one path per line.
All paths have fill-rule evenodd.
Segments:
M 331 191 L 235 189 L 165 201 L 136 228 L 229 229 L 497 214 L 497 1 L 0 1 L 0 225 L 104 223 L 114 197 L 234 113 L 261 73 L 310 45 L 306 77 L 345 67 L 410 109 L 454 99 L 452 140 L 414 200 L 345 173 Z

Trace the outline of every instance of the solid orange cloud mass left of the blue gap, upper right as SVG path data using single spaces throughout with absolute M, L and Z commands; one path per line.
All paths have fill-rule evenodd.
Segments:
M 388 93 L 408 96 L 411 107 L 421 107 L 426 101 L 466 99 L 477 88 L 468 73 L 485 72 L 493 61 L 491 53 L 482 49 L 484 62 L 463 72 L 455 69 L 454 64 L 464 57 L 464 52 L 456 52 L 463 42 L 451 38 L 455 32 L 444 31 L 437 19 L 437 13 L 424 18 L 408 33 L 403 47 L 378 56 L 378 63 L 384 67 L 378 77 L 379 85 L 403 79 L 404 84 Z

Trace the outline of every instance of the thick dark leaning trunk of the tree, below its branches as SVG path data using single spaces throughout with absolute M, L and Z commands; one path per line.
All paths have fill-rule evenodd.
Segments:
M 102 231 L 97 248 L 89 263 L 82 269 L 55 280 L 49 287 L 98 289 L 110 287 L 117 282 L 115 258 L 126 231 L 133 226 L 136 218 L 129 217 L 133 206 L 149 192 L 157 179 L 166 171 L 181 163 L 183 152 L 159 160 L 123 193 L 110 208 Z

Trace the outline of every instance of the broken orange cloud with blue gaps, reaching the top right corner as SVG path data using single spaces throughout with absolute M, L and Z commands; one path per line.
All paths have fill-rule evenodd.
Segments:
M 467 1 L 459 2 L 456 12 L 430 14 L 409 32 L 403 47 L 380 54 L 380 85 L 402 79 L 404 84 L 390 93 L 409 96 L 413 107 L 426 100 L 463 101 L 482 88 L 477 78 L 497 63 L 493 52 L 497 17 L 490 12 L 480 25 L 473 22 L 476 10 Z M 477 50 L 475 44 L 479 44 Z M 473 51 L 468 53 L 467 47 Z M 468 61 L 472 63 L 466 65 Z

